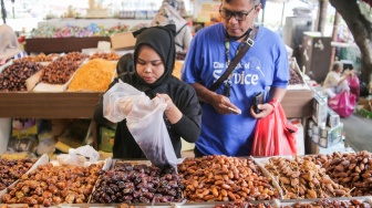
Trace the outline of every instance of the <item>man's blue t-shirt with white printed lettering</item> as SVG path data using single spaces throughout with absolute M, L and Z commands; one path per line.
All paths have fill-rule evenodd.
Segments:
M 229 42 L 229 59 L 232 60 L 239 42 Z M 223 23 L 204 28 L 192 41 L 182 80 L 210 87 L 227 69 L 226 62 Z M 204 155 L 249 155 L 257 122 L 250 115 L 254 94 L 268 92 L 269 86 L 286 89 L 288 80 L 288 55 L 282 40 L 275 32 L 260 27 L 255 44 L 232 72 L 229 98 L 241 110 L 241 115 L 223 115 L 210 104 L 203 104 L 202 133 L 196 147 Z M 223 92 L 224 84 L 216 90 L 218 94 Z

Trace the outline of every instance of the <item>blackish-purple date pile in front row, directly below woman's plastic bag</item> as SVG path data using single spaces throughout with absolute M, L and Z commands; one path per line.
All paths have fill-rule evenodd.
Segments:
M 99 178 L 91 202 L 137 204 L 175 202 L 183 200 L 183 185 L 172 167 L 163 169 L 145 164 L 115 163 Z

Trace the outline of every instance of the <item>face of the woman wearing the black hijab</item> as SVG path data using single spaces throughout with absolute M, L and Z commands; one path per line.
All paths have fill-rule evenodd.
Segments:
M 156 82 L 164 74 L 164 63 L 156 51 L 148 45 L 141 45 L 136 60 L 136 71 L 146 83 Z

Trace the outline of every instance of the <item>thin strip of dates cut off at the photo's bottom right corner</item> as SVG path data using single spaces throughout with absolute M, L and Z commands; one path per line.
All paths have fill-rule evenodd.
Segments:
M 322 199 L 314 202 L 296 202 L 292 206 L 281 206 L 281 208 L 366 208 L 371 207 L 368 202 L 362 202 L 358 199 L 351 200 L 330 200 Z

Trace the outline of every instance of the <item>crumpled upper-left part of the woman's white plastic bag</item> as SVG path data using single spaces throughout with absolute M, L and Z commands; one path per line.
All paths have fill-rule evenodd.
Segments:
M 125 119 L 128 113 L 125 108 L 132 108 L 133 97 L 142 96 L 147 97 L 143 92 L 118 80 L 118 83 L 103 95 L 103 116 L 113 123 Z

